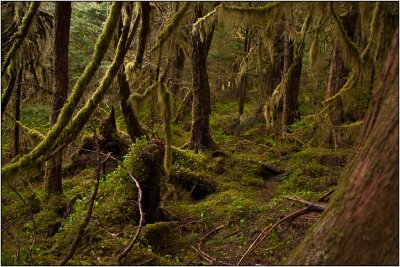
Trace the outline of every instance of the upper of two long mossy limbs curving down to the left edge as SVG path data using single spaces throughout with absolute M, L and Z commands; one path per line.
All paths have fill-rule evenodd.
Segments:
M 74 89 L 72 90 L 67 102 L 65 103 L 63 109 L 60 112 L 57 123 L 53 126 L 53 128 L 51 128 L 46 138 L 43 139 L 43 141 L 38 146 L 36 146 L 30 153 L 21 157 L 19 161 L 8 164 L 5 167 L 3 167 L 1 169 L 2 177 L 4 177 L 5 179 L 11 179 L 12 178 L 11 176 L 17 173 L 18 171 L 21 171 L 21 169 L 28 167 L 29 165 L 32 166 L 32 164 L 36 165 L 40 163 L 41 160 L 37 161 L 37 159 L 42 155 L 44 155 L 45 153 L 48 153 L 52 149 L 52 147 L 54 147 L 56 139 L 57 138 L 59 139 L 61 131 L 70 121 L 76 105 L 81 99 L 83 92 L 85 91 L 91 78 L 98 69 L 102 58 L 107 52 L 108 45 L 112 39 L 115 28 L 118 24 L 122 5 L 123 5 L 122 2 L 115 2 L 112 5 L 110 15 L 103 28 L 103 32 L 96 43 L 92 61 L 86 66 L 84 73 L 81 75 Z M 98 96 L 96 96 L 96 99 L 97 98 Z M 42 160 L 44 160 L 43 157 Z

